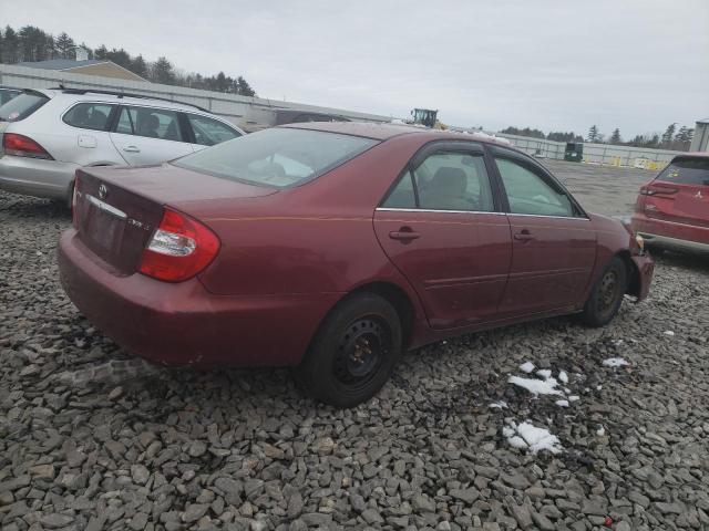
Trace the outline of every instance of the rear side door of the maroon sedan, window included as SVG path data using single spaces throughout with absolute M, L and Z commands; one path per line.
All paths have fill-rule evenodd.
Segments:
M 420 152 L 374 212 L 390 260 L 411 282 L 434 329 L 492 320 L 512 253 L 483 149 L 438 143 Z

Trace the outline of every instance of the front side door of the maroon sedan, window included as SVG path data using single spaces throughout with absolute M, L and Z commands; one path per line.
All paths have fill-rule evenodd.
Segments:
M 531 157 L 491 147 L 512 230 L 501 316 L 579 303 L 596 260 L 596 231 L 562 185 Z

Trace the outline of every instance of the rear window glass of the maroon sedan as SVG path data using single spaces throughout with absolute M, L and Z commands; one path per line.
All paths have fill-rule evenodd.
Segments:
M 320 131 L 274 128 L 218 144 L 173 164 L 229 180 L 285 188 L 314 179 L 377 143 Z

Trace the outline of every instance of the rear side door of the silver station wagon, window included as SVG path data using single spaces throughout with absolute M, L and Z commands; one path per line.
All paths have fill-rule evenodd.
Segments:
M 122 105 L 111 140 L 131 166 L 156 164 L 194 153 L 176 111 Z

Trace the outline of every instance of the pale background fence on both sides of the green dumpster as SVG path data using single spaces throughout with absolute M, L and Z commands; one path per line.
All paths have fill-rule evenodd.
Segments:
M 566 149 L 565 142 L 501 133 L 497 133 L 497 136 L 507 138 L 515 147 L 528 155 L 541 158 L 564 159 L 564 150 Z M 584 143 L 584 163 L 603 164 L 607 166 L 661 169 L 667 166 L 676 155 L 681 155 L 682 153 L 684 152 L 670 152 L 668 149 Z

